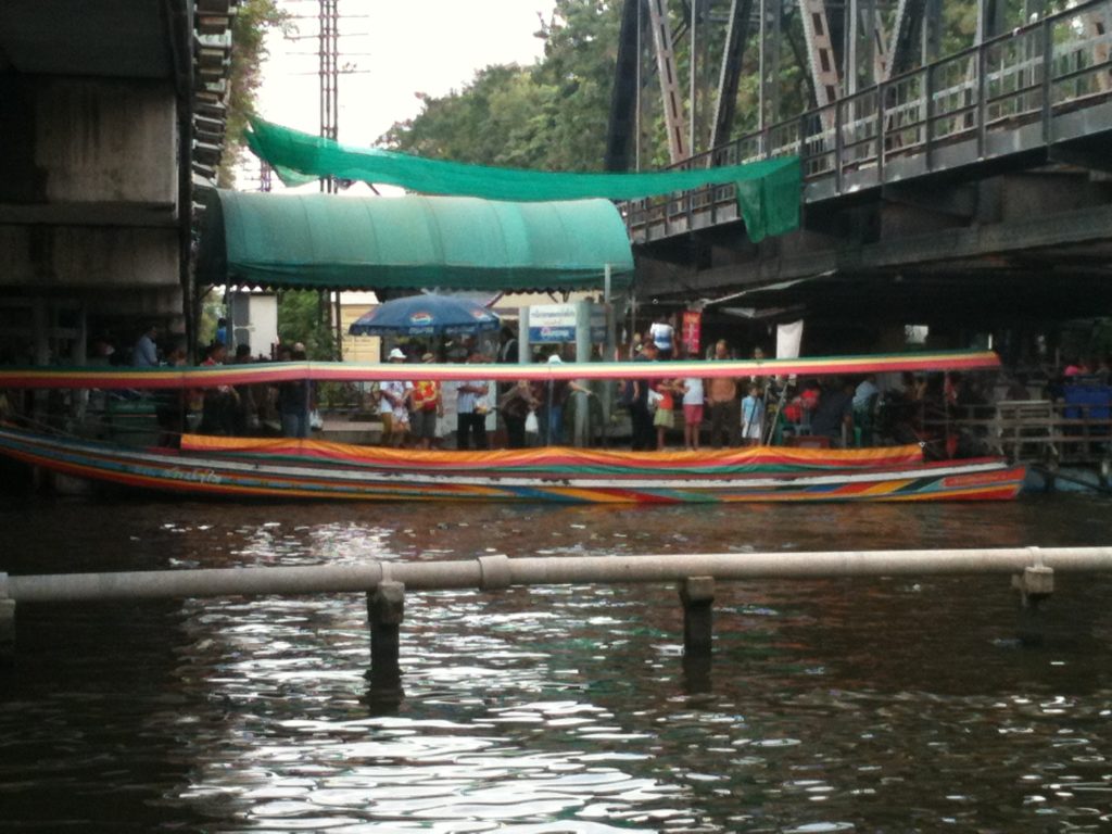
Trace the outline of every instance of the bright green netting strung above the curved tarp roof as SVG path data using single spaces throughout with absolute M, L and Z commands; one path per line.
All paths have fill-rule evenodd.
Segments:
M 287 185 L 320 177 L 400 186 L 421 193 L 490 200 L 579 200 L 604 197 L 638 200 L 705 186 L 733 183 L 754 242 L 800 226 L 801 172 L 797 157 L 688 171 L 557 173 L 421 159 L 377 148 L 351 148 L 262 119 L 251 121 L 247 141 Z

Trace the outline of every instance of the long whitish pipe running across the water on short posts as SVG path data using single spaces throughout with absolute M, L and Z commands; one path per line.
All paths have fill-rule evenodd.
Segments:
M 159 597 L 250 596 L 373 590 L 386 580 L 409 590 L 495 589 L 510 585 L 589 585 L 719 580 L 813 579 L 844 576 L 1022 574 L 1112 570 L 1112 547 L 1011 547 L 952 550 L 674 554 L 646 556 L 484 556 L 456 562 L 367 562 L 359 565 L 149 570 L 7 576 L 0 598 L 47 603 Z

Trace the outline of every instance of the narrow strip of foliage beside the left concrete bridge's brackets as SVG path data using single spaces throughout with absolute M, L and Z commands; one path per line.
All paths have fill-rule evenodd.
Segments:
M 256 95 L 262 83 L 260 68 L 267 59 L 267 32 L 271 29 L 286 31 L 289 26 L 289 16 L 278 9 L 276 0 L 240 0 L 231 26 L 225 153 L 217 172 L 221 188 L 232 187 L 232 171 L 246 149 L 244 131 L 255 112 Z

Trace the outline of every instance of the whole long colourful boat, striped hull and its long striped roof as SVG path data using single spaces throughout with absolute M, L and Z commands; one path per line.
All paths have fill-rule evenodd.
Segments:
M 787 377 L 973 370 L 991 353 L 791 360 L 589 365 L 264 363 L 208 368 L 0 369 L 0 389 L 189 389 L 296 380 L 515 380 Z M 999 457 L 927 461 L 921 445 L 706 451 L 568 447 L 440 451 L 317 439 L 187 434 L 180 448 L 133 448 L 0 426 L 0 454 L 90 480 L 220 498 L 527 500 L 568 503 L 1009 499 L 1024 468 Z

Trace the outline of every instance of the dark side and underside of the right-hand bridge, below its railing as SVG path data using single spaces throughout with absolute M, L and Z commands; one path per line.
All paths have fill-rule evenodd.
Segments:
M 994 325 L 1112 309 L 1112 180 L 1046 167 L 806 207 L 752 245 L 739 222 L 637 248 L 643 302 Z M 802 308 L 802 310 L 801 310 Z

